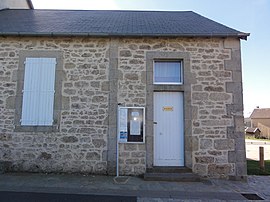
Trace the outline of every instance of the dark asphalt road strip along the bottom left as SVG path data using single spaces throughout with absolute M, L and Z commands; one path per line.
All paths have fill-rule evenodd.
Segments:
M 0 191 L 1 202 L 136 202 L 136 196 L 30 193 Z

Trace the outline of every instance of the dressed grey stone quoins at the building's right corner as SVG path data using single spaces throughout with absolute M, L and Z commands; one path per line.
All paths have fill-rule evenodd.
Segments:
M 234 150 L 228 151 L 228 162 L 233 165 L 229 179 L 246 179 L 246 149 L 243 117 L 243 90 L 240 40 L 224 40 L 224 48 L 230 50 L 230 60 L 225 60 L 225 70 L 231 71 L 232 81 L 226 82 L 226 91 L 232 93 L 232 103 L 226 105 L 227 115 L 232 117 L 232 126 L 227 127 L 227 138 L 234 142 Z M 225 167 L 225 166 L 224 166 Z M 226 175 L 225 175 L 226 176 Z

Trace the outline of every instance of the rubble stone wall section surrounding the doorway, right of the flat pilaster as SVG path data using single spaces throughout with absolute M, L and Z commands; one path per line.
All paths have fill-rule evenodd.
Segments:
M 146 71 L 148 71 L 145 61 L 147 51 L 189 53 L 190 71 L 195 80 L 185 78 L 186 80 L 193 79 L 191 85 L 192 125 L 185 126 L 186 133 L 191 131 L 191 134 L 185 136 L 191 136 L 192 169 L 201 176 L 228 178 L 237 174 L 236 164 L 229 159 L 229 153 L 236 152 L 238 148 L 235 137 L 229 137 L 227 132 L 228 129 L 233 131 L 243 129 L 242 99 L 233 100 L 235 94 L 238 94 L 240 98 L 242 96 L 241 63 L 240 74 L 238 63 L 235 65 L 231 62 L 232 69 L 226 69 L 225 61 L 232 60 L 230 44 L 238 47 L 240 51 L 237 39 L 227 42 L 226 39 L 144 38 L 143 40 L 123 39 L 119 42 L 118 101 L 125 106 L 146 105 L 144 96 Z M 240 60 L 240 55 L 238 60 Z M 184 66 L 184 68 L 187 67 Z M 234 68 L 236 70 L 233 70 Z M 240 82 L 233 82 L 233 76 L 238 76 Z M 227 88 L 230 84 L 236 84 L 237 89 L 228 92 Z M 150 96 L 149 92 L 146 96 Z M 237 122 L 235 122 L 235 114 L 227 108 L 228 105 L 240 105 L 240 109 L 237 110 L 237 116 L 240 119 Z M 239 144 L 243 147 L 244 141 L 239 141 Z M 140 167 L 140 172 L 136 174 L 142 174 L 145 171 L 143 167 L 146 165 L 141 163 L 144 162 L 143 159 L 138 161 L 138 155 L 143 155 L 141 152 L 145 152 L 141 149 L 145 148 L 140 146 L 140 150 L 137 150 L 137 146 L 139 145 L 130 146 L 134 147 L 131 149 L 132 152 L 129 152 L 129 149 L 126 151 L 127 148 L 124 146 L 120 148 L 120 167 L 125 168 L 124 174 L 129 174 L 128 170 L 133 171 L 134 165 Z M 241 166 L 243 172 L 238 173 L 241 176 L 246 175 L 244 157 L 242 152 L 239 158 L 243 162 Z

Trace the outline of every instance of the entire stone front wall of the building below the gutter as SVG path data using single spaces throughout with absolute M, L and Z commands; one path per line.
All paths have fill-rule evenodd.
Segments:
M 16 130 L 22 51 L 61 55 L 60 122 L 53 131 Z M 1 37 L 0 163 L 5 170 L 115 174 L 120 103 L 146 108 L 145 142 L 119 144 L 120 175 L 145 173 L 153 166 L 150 103 L 159 90 L 149 82 L 153 70 L 147 54 L 152 53 L 164 59 L 182 54 L 187 61 L 183 88 L 177 90 L 185 93 L 185 166 L 202 177 L 245 178 L 240 41 L 218 37 Z

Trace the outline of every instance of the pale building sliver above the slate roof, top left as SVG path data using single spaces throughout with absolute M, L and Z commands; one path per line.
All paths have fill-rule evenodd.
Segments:
M 34 9 L 31 0 L 1 0 L 0 10 L 2 9 Z

